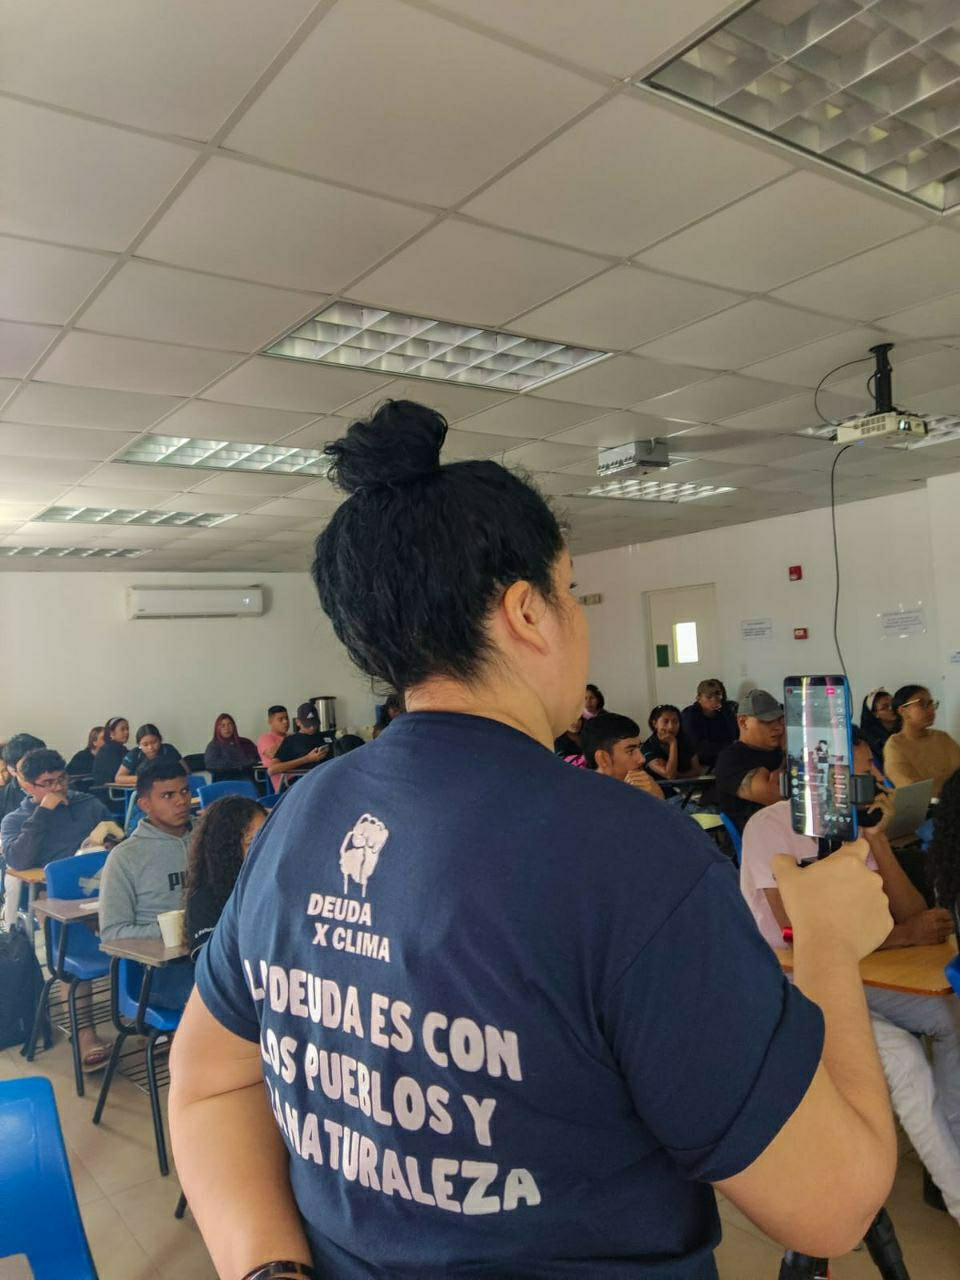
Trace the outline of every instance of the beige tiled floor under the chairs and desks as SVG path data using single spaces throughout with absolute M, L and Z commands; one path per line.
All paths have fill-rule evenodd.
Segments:
M 118 1078 L 99 1128 L 91 1124 L 99 1076 L 87 1096 L 73 1087 L 69 1047 L 55 1043 L 36 1062 L 17 1050 L 0 1051 L 0 1078 L 42 1074 L 52 1080 L 60 1108 L 81 1212 L 100 1280 L 216 1280 L 189 1212 L 177 1221 L 177 1175 L 160 1178 L 150 1105 L 129 1082 Z M 164 1093 L 165 1098 L 165 1093 Z M 911 1280 L 960 1276 L 960 1228 L 920 1198 L 920 1165 L 913 1155 L 900 1161 L 887 1202 Z M 782 1251 L 732 1204 L 721 1202 L 723 1243 L 717 1258 L 722 1280 L 777 1280 Z M 833 1263 L 835 1280 L 877 1280 L 865 1251 Z

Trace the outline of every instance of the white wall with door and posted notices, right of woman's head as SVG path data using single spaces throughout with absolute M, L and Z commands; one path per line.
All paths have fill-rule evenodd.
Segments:
M 842 506 L 837 527 L 840 637 L 858 716 L 870 687 L 923 681 L 946 699 L 940 724 L 960 736 L 960 664 L 948 662 L 960 650 L 960 476 Z M 803 564 L 801 582 L 788 581 L 791 564 Z M 588 609 L 590 678 L 612 709 L 645 718 L 654 701 L 644 593 L 662 588 L 716 584 L 717 675 L 731 696 L 753 685 L 776 692 L 786 675 L 838 668 L 829 509 L 595 552 L 577 557 L 576 579 L 580 591 L 603 594 Z M 882 636 L 878 612 L 920 602 L 925 635 Z M 740 622 L 751 617 L 773 620 L 772 640 L 741 639 Z M 794 640 L 801 626 L 809 640 Z

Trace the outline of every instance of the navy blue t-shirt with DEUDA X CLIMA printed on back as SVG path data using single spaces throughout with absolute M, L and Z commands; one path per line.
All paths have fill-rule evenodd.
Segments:
M 682 813 L 407 714 L 270 818 L 197 966 L 321 1276 L 712 1280 L 823 1025 Z

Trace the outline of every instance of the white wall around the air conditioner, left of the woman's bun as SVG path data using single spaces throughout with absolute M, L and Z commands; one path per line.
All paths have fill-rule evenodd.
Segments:
M 259 582 L 260 618 L 129 622 L 127 586 Z M 23 730 L 64 754 L 91 724 L 152 721 L 202 751 L 219 712 L 256 740 L 266 708 L 337 695 L 339 726 L 369 724 L 370 682 L 348 662 L 303 573 L 0 573 L 0 739 Z

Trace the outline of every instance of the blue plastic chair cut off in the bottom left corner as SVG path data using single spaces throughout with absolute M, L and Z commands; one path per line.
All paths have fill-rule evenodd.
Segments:
M 50 1080 L 0 1080 L 0 1257 L 36 1280 L 97 1280 Z

